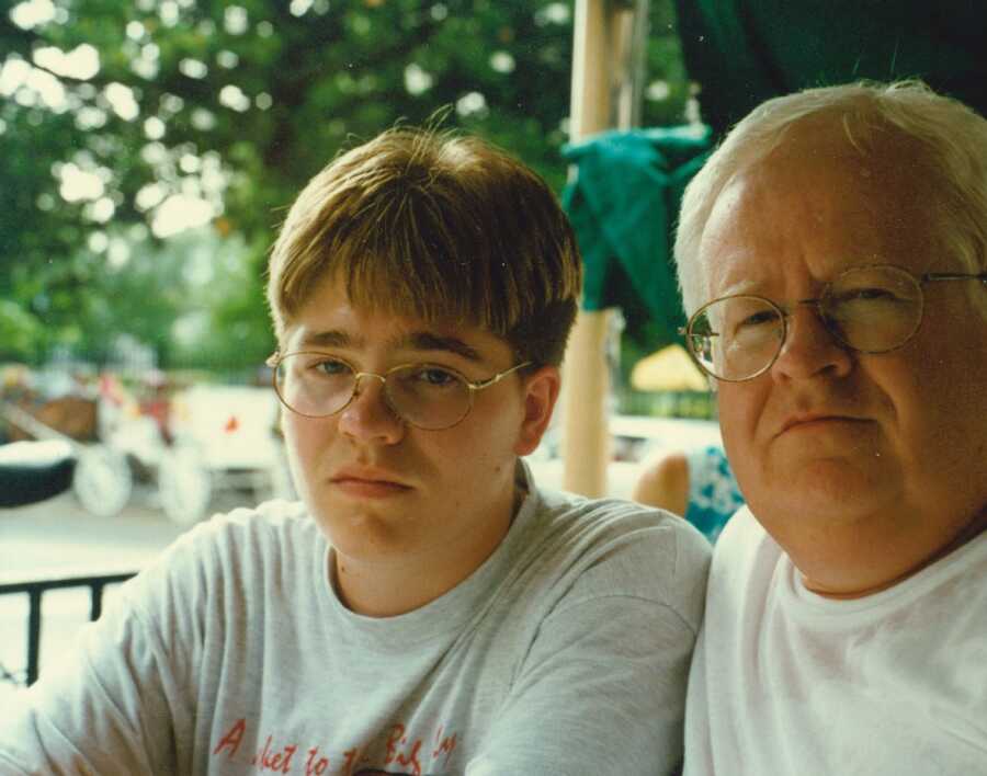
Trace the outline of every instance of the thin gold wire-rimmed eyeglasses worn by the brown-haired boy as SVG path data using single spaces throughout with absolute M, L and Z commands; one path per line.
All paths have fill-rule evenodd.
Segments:
M 532 364 L 526 361 L 473 383 L 438 364 L 399 364 L 378 375 L 358 372 L 337 355 L 308 351 L 275 352 L 265 363 L 273 369 L 277 398 L 296 414 L 328 418 L 342 412 L 359 393 L 360 381 L 370 377 L 381 380 L 384 400 L 395 415 L 427 431 L 442 431 L 462 422 L 473 409 L 477 391 Z

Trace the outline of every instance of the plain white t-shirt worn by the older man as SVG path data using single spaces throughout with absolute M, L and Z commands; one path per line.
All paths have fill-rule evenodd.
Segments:
M 888 590 L 802 583 L 742 507 L 690 674 L 685 774 L 987 773 L 987 534 Z

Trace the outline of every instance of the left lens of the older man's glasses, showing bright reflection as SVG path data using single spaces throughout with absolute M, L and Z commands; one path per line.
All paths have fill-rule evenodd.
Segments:
M 757 296 L 715 299 L 692 317 L 689 349 L 713 377 L 736 381 L 771 366 L 784 340 L 782 311 Z

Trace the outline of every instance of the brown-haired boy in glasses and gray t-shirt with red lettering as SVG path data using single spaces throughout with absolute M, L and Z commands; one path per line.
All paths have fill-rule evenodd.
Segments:
M 706 545 L 520 461 L 579 284 L 551 191 L 478 140 L 332 162 L 270 264 L 302 503 L 214 518 L 129 583 L 0 723 L 0 772 L 673 771 Z

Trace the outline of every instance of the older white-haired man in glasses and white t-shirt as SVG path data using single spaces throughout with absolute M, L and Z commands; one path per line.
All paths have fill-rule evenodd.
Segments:
M 772 100 L 676 252 L 748 502 L 685 773 L 984 773 L 987 121 L 915 82 Z

